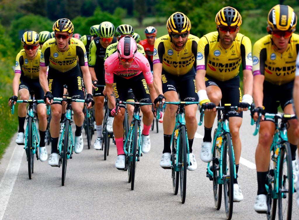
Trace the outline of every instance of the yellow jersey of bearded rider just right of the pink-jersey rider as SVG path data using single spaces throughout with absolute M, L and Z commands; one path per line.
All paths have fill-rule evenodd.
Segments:
M 193 68 L 199 38 L 189 34 L 184 47 L 176 51 L 170 36 L 164 35 L 155 40 L 153 64 L 162 63 L 162 68 L 169 74 L 185 75 Z

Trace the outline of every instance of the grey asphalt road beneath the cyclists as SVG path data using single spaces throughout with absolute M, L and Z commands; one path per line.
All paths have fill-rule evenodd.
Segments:
M 240 131 L 243 159 L 238 178 L 244 200 L 234 203 L 233 219 L 266 219 L 266 214 L 253 209 L 257 192 L 257 136 L 252 135 L 253 130 L 246 112 Z M 202 135 L 200 126 L 193 143 L 198 168 L 187 171 L 185 204 L 181 204 L 179 194 L 173 195 L 171 170 L 159 166 L 163 150 L 161 123 L 158 134 L 155 129 L 150 132 L 150 152 L 138 162 L 134 191 L 127 182 L 127 172 L 115 168 L 115 145 L 111 145 L 104 161 L 103 151 L 87 149 L 86 139 L 83 152 L 68 161 L 65 186 L 61 186 L 62 169 L 49 166 L 47 161 L 35 161 L 29 180 L 26 153 L 23 146 L 15 144 L 15 136 L 0 163 L 0 220 L 225 219 L 223 200 L 220 210 L 216 210 L 213 184 L 206 177 L 207 164 L 200 160 Z M 47 150 L 50 155 L 51 146 Z M 294 197 L 292 219 L 298 219 Z

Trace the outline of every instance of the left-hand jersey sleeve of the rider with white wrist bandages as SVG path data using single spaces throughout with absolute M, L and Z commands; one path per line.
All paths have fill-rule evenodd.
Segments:
M 196 54 L 196 71 L 197 70 L 206 70 L 207 61 L 209 55 L 209 42 L 208 39 L 203 36 L 199 39 L 197 45 L 197 54 Z

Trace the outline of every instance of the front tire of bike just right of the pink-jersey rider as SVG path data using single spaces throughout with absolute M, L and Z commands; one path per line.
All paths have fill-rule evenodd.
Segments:
M 186 127 L 181 126 L 179 138 L 179 164 L 180 164 L 180 194 L 181 203 L 186 200 L 186 183 L 187 183 L 187 142 L 186 142 Z

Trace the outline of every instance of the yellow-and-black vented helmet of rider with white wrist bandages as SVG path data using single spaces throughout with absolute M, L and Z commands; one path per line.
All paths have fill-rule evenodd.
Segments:
M 235 8 L 224 7 L 216 14 L 215 22 L 218 26 L 223 25 L 228 27 L 240 27 L 242 24 L 242 17 Z

